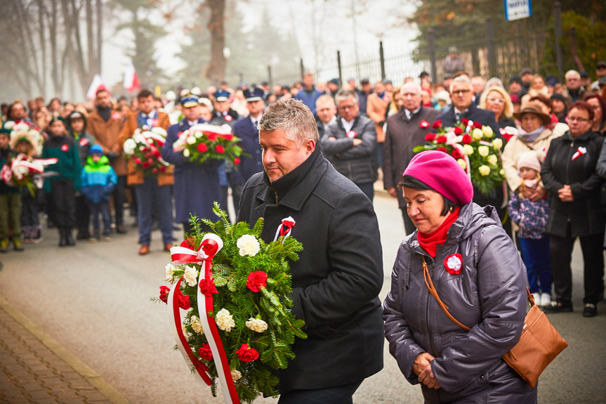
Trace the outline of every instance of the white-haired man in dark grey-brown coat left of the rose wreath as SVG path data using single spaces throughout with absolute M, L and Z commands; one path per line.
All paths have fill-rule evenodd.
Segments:
M 402 211 L 406 234 L 412 234 L 416 227 L 407 214 L 406 201 L 402 190 L 395 187 L 402 178 L 402 173 L 414 157 L 412 151 L 416 146 L 426 143 L 425 136 L 432 129 L 421 122 L 433 122 L 440 111 L 421 105 L 421 86 L 414 82 L 402 85 L 400 89 L 404 107 L 397 114 L 387 119 L 387 131 L 383 144 L 383 187 L 389 195 L 397 197 L 397 204 Z

